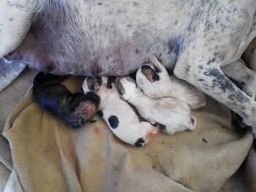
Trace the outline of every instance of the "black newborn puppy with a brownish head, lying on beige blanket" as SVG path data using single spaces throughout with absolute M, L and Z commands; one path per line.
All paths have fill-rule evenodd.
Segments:
M 37 104 L 58 116 L 72 128 L 93 122 L 99 96 L 93 92 L 71 93 L 60 81 L 63 77 L 39 72 L 34 78 L 33 96 Z

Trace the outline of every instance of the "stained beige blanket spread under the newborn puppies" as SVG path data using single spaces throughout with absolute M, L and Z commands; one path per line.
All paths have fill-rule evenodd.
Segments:
M 81 77 L 64 82 L 80 90 Z M 230 126 L 230 110 L 212 99 L 193 112 L 195 131 L 157 134 L 145 147 L 121 142 L 98 118 L 71 129 L 42 110 L 29 92 L 8 118 L 15 191 L 221 191 L 241 166 L 252 134 Z

